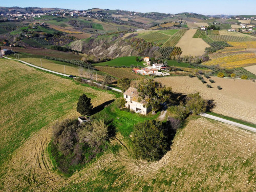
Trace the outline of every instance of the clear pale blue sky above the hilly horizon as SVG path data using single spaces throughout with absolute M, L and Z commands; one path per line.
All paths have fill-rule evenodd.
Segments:
M 12 0 L 2 1 L 0 7 L 42 7 L 86 10 L 91 8 L 121 9 L 137 12 L 180 13 L 194 12 L 205 15 L 256 15 L 256 0 Z

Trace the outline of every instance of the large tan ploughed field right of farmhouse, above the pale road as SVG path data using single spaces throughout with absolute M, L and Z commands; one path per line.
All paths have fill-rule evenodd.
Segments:
M 173 91 L 189 94 L 200 92 L 205 99 L 212 99 L 216 104 L 214 112 L 229 117 L 242 119 L 256 123 L 256 83 L 250 80 L 233 80 L 218 77 L 211 77 L 215 83 L 208 84 L 213 88 L 209 89 L 200 80 L 189 77 L 163 77 L 156 79 L 166 86 L 173 88 Z M 218 90 L 217 86 L 223 89 Z M 249 93 L 249 94 L 248 94 Z

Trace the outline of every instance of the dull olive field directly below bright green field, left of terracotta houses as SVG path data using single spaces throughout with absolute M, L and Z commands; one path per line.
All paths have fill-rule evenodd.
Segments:
M 97 70 L 108 73 L 116 78 L 126 77 L 129 79 L 136 79 L 140 77 L 138 74 L 133 73 L 131 68 L 113 68 L 113 67 L 95 67 Z

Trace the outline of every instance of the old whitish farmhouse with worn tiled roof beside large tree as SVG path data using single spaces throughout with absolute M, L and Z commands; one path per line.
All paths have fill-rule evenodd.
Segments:
M 126 100 L 125 107 L 130 111 L 135 111 L 142 115 L 147 115 L 151 112 L 151 108 L 146 107 L 146 101 L 139 96 L 137 89 L 130 87 L 123 93 L 123 98 Z

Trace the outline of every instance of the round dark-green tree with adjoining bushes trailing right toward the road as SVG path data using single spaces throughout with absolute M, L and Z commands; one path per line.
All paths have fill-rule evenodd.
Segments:
M 152 91 L 150 91 L 152 92 Z M 173 116 L 166 123 L 149 120 L 134 125 L 132 134 L 134 156 L 147 161 L 157 161 L 169 150 L 176 130 L 189 113 L 200 114 L 206 111 L 207 101 L 199 93 L 189 94 L 185 103 L 169 107 Z

